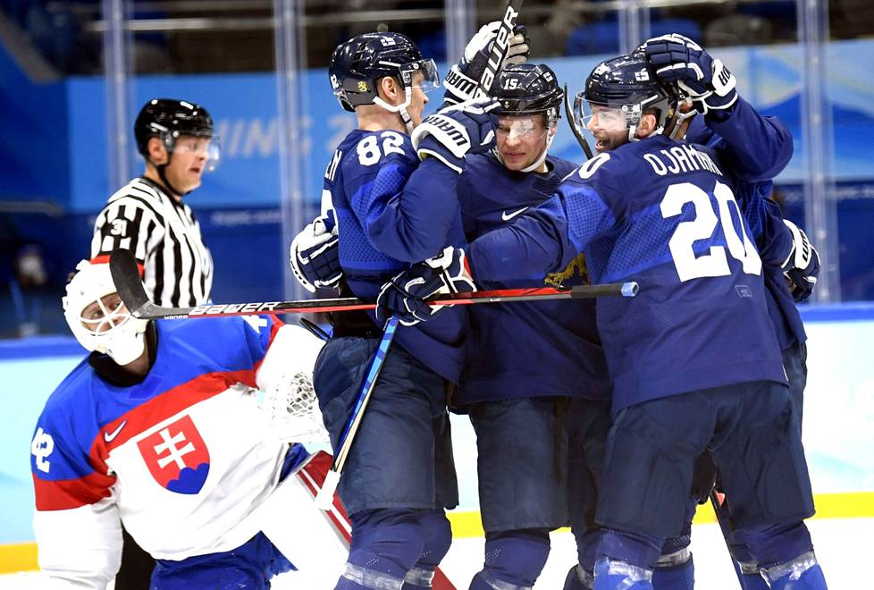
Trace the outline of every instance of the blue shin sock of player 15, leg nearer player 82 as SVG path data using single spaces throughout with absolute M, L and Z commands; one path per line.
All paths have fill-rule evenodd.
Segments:
M 485 564 L 471 580 L 470 588 L 531 588 L 540 576 L 549 555 L 550 531 L 546 528 L 487 533 Z

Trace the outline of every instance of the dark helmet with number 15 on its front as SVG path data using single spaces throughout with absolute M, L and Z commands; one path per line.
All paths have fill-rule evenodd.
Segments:
M 500 71 L 492 84 L 492 97 L 500 102 L 501 114 L 555 112 L 565 93 L 555 72 L 545 63 L 518 63 Z

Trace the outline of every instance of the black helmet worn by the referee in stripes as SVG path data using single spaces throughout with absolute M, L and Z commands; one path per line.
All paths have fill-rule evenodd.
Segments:
M 172 152 L 180 135 L 212 138 L 213 119 L 206 109 L 195 103 L 173 98 L 153 98 L 143 105 L 133 123 L 137 150 L 148 157 L 148 139 L 157 137 Z

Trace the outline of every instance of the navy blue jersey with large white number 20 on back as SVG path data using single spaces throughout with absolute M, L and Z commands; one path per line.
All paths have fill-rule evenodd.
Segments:
M 785 384 L 736 185 L 706 147 L 664 136 L 626 144 L 476 240 L 474 276 L 501 278 L 510 260 L 508 272 L 554 272 L 583 251 L 593 283 L 639 282 L 636 298 L 597 303 L 615 411 L 720 385 Z

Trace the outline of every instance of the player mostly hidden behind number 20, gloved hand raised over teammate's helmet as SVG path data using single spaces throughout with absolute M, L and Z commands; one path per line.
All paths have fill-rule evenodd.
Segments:
M 708 90 L 701 85 L 697 71 L 712 69 L 713 59 L 692 39 L 677 34 L 666 35 L 649 39 L 640 49 L 660 80 L 682 82 L 690 97 L 701 97 Z M 720 154 L 723 161 L 730 161 L 729 165 L 739 180 L 735 198 L 751 224 L 762 258 L 774 259 L 769 254 L 773 251 L 777 253 L 777 259 L 784 259 L 782 265 L 764 264 L 762 274 L 769 315 L 782 350 L 783 366 L 800 425 L 807 381 L 807 337 L 794 301 L 810 296 L 819 274 L 819 255 L 803 230 L 784 220 L 779 206 L 770 198 L 773 190 L 771 179 L 783 170 L 792 156 L 789 131 L 777 118 L 757 114 L 743 97 L 737 96 L 730 105 L 729 102 L 723 101 L 727 108 L 710 108 L 698 98 L 693 105 L 702 116 L 693 117 L 685 138 L 691 143 L 708 145 Z M 701 481 L 705 484 L 701 489 L 702 502 L 707 500 L 706 494 L 710 492 L 708 488 L 715 473 L 710 453 L 705 455 L 697 466 L 703 472 Z M 696 479 L 701 475 L 696 472 Z M 719 524 L 727 535 L 742 586 L 746 590 L 769 587 L 752 560 L 742 535 L 731 530 L 730 502 L 721 494 L 716 497 L 719 499 Z

